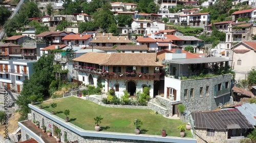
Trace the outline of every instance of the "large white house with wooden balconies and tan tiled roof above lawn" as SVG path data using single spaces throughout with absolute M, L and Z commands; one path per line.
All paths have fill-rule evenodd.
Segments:
M 124 90 L 133 96 L 146 86 L 151 87 L 151 98 L 156 94 L 154 84 L 160 79 L 159 67 L 162 67 L 156 62 L 156 53 L 89 52 L 73 61 L 75 70 L 79 72 L 78 80 L 95 86 L 102 82 L 105 92 L 114 88 L 119 97 Z

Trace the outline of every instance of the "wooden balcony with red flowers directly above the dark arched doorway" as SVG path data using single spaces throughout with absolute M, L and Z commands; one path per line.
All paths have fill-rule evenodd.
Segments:
M 103 73 L 103 79 L 139 79 L 139 80 L 160 80 L 158 73 Z

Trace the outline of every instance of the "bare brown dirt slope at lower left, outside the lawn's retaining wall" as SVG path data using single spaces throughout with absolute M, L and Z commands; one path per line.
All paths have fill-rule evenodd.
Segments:
M 14 132 L 18 128 L 18 119 L 20 114 L 18 112 L 14 112 L 11 116 L 10 120 L 8 121 L 8 133 Z M 1 124 L 0 124 L 1 125 Z M 0 135 L 3 136 L 4 134 L 5 125 L 0 126 Z

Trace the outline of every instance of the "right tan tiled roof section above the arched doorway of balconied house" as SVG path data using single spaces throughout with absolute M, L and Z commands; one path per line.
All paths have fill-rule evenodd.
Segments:
M 156 60 L 156 53 L 111 53 L 110 58 L 100 65 L 162 67 Z

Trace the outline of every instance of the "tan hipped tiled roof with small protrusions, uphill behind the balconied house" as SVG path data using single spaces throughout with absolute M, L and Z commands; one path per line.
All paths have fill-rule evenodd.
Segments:
M 133 43 L 128 38 L 125 38 L 123 36 L 96 36 L 89 43 Z

